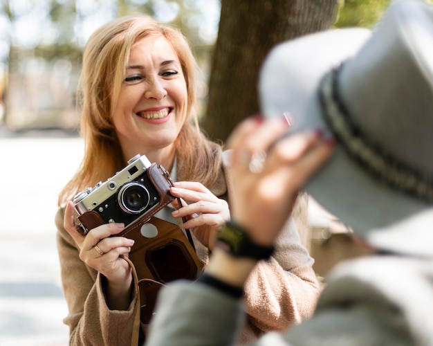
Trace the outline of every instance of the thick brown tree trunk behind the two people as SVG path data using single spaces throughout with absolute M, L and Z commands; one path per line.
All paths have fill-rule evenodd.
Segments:
M 259 111 L 257 78 L 279 42 L 331 26 L 338 0 L 221 0 L 203 129 L 224 141 Z

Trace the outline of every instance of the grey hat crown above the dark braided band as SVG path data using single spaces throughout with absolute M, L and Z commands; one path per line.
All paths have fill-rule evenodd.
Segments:
M 396 161 L 433 176 L 433 8 L 393 4 L 340 75 L 351 120 Z

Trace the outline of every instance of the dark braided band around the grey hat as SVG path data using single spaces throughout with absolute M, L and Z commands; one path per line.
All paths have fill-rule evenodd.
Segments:
M 433 179 L 398 161 L 383 147 L 371 140 L 353 122 L 347 107 L 338 95 L 338 77 L 342 65 L 326 74 L 320 86 L 320 102 L 324 118 L 346 152 L 363 169 L 392 188 L 419 199 L 433 201 Z

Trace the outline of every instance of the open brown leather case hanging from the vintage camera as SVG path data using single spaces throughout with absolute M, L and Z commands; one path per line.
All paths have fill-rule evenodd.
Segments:
M 138 277 L 140 320 L 145 324 L 148 324 L 151 319 L 160 287 L 173 280 L 195 280 L 204 266 L 196 255 L 192 239 L 191 241 L 187 239 L 179 226 L 154 217 L 156 212 L 174 200 L 169 193 L 172 183 L 167 171 L 153 163 L 148 168 L 147 174 L 158 190 L 160 203 L 154 210 L 141 215 L 119 234 L 135 241 L 128 262 L 132 262 L 133 271 L 136 271 Z M 78 219 L 89 230 L 104 224 L 98 212 L 93 210 L 84 212 Z M 141 228 L 145 224 L 156 227 L 155 237 L 148 238 L 141 234 Z M 77 229 L 82 232 L 80 227 Z

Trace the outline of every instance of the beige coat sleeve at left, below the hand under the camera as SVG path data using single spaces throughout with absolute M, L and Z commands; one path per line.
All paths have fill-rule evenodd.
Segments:
M 79 249 L 63 227 L 64 209 L 55 215 L 57 248 L 64 296 L 68 304 L 69 345 L 131 345 L 137 300 L 126 311 L 110 310 L 105 302 L 104 277 L 79 257 Z M 136 297 L 133 292 L 133 297 Z

